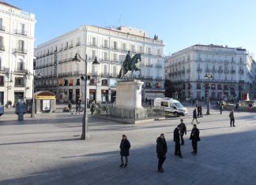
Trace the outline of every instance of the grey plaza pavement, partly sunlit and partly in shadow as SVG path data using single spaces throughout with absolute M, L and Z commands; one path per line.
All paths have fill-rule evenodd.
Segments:
M 179 118 L 143 124 L 118 124 L 89 117 L 90 139 L 81 140 L 82 115 L 51 113 L 0 117 L 0 184 L 256 184 L 256 114 L 228 112 L 200 118 L 198 155 L 190 154 L 192 108 L 183 159 L 174 156 L 173 130 Z M 205 112 L 205 110 L 204 110 Z M 157 172 L 156 138 L 164 133 L 168 157 Z M 128 168 L 119 168 L 119 142 L 131 142 Z

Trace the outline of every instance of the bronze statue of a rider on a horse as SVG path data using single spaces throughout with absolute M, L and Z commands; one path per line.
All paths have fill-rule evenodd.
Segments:
M 130 64 L 127 61 L 122 62 L 122 66 L 119 72 L 119 79 L 122 79 L 128 71 L 131 71 L 130 78 L 133 78 L 134 71 L 140 71 L 141 76 L 141 69 L 137 68 L 136 64 L 138 61 L 141 61 L 141 54 L 135 54 L 134 57 L 131 58 Z

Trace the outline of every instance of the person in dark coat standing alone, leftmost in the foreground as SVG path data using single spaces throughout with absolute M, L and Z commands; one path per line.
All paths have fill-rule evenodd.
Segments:
M 130 155 L 130 142 L 126 135 L 122 135 L 122 140 L 120 143 L 120 155 L 121 155 L 121 165 L 120 168 L 126 168 L 128 165 L 128 156 Z M 126 163 L 123 163 L 123 157 L 126 158 Z

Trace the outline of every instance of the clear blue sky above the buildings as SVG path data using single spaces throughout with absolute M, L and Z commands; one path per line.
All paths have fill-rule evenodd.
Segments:
M 81 25 L 126 25 L 164 40 L 165 54 L 194 44 L 242 46 L 256 57 L 254 0 L 6 0 L 36 14 L 36 46 Z

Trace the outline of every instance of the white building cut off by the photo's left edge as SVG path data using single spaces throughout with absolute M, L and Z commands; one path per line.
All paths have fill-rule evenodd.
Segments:
M 0 102 L 32 98 L 35 15 L 0 2 Z

